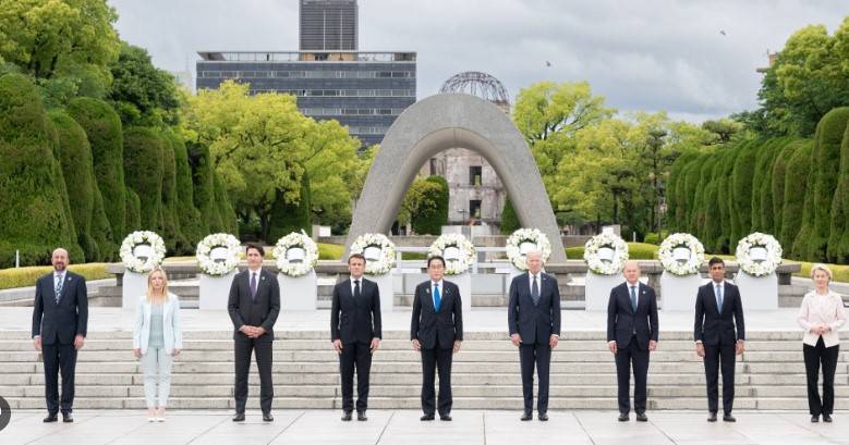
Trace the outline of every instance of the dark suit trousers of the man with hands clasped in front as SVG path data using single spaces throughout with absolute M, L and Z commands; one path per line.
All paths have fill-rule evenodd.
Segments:
M 234 341 L 235 359 L 235 412 L 244 412 L 247 403 L 247 374 L 251 370 L 251 353 L 256 355 L 259 371 L 259 407 L 263 412 L 271 411 L 275 387 L 271 383 L 271 359 L 274 343 L 267 339 L 247 338 Z

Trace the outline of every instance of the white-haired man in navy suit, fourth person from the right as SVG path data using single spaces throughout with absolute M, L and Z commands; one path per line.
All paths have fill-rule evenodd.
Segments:
M 517 275 L 510 282 L 510 300 L 507 304 L 507 324 L 510 341 L 519 347 L 522 367 L 522 420 L 533 419 L 534 363 L 539 379 L 536 412 L 542 421 L 548 420 L 548 374 L 551 350 L 560 339 L 560 289 L 557 280 L 543 273 L 543 255 L 530 251 L 525 257 L 527 273 Z

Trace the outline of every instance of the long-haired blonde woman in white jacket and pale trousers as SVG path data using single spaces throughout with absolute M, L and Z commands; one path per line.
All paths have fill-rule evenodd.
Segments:
M 165 421 L 171 364 L 182 348 L 180 300 L 168 292 L 168 275 L 157 267 L 147 275 L 147 295 L 138 301 L 133 329 L 133 349 L 144 370 L 148 422 Z

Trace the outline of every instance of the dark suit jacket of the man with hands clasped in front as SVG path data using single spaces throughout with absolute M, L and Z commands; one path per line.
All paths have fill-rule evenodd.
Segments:
M 262 270 L 256 283 L 256 298 L 251 298 L 251 271 L 248 269 L 238 273 L 230 285 L 230 298 L 227 302 L 230 320 L 233 321 L 233 339 L 250 339 L 239 330 L 247 324 L 262 326 L 265 335 L 259 341 L 271 342 L 275 339 L 275 322 L 280 313 L 280 285 L 277 276 L 271 272 Z

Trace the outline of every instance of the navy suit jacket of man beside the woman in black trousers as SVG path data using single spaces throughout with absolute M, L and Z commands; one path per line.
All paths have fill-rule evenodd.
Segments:
M 735 325 L 737 326 L 736 333 Z M 725 282 L 721 314 L 716 306 L 714 282 L 711 281 L 699 287 L 699 294 L 695 297 L 693 336 L 696 342 L 708 346 L 733 345 L 738 339 L 745 339 L 743 304 L 740 300 L 740 291 L 737 286 Z

